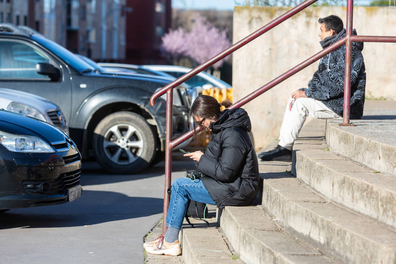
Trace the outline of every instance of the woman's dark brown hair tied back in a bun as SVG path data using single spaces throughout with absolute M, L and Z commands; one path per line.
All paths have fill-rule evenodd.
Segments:
M 214 97 L 209 95 L 199 95 L 194 100 L 194 103 L 192 103 L 190 112 L 188 112 L 187 125 L 194 131 L 194 135 L 196 136 L 198 125 L 194 122 L 194 116 L 200 118 L 213 118 L 214 120 L 217 120 L 223 114 L 223 111 L 220 111 L 220 107 L 225 106 L 225 108 L 228 108 L 231 105 L 231 100 L 224 100 L 219 103 Z

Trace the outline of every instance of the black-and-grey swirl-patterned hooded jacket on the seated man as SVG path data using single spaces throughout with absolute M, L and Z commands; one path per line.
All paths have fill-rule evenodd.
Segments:
M 357 35 L 353 30 L 353 35 Z M 345 28 L 333 41 L 322 44 L 323 48 L 346 36 Z M 328 37 L 331 38 L 331 37 Z M 352 72 L 350 80 L 350 119 L 360 119 L 363 115 L 366 72 L 363 61 L 363 42 L 352 42 Z M 320 60 L 318 70 L 305 90 L 307 97 L 322 101 L 340 116 L 343 115 L 345 78 L 345 45 L 327 54 Z

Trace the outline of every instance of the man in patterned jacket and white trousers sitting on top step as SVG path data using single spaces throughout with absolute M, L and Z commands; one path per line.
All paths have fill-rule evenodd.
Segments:
M 320 44 L 323 48 L 346 36 L 343 21 L 330 15 L 319 19 Z M 356 30 L 353 30 L 356 35 Z M 363 42 L 352 42 L 352 72 L 350 80 L 350 119 L 363 115 L 366 72 L 362 55 Z M 307 88 L 291 93 L 280 128 L 276 148 L 258 155 L 261 160 L 291 161 L 293 142 L 307 118 L 337 118 L 343 116 L 345 77 L 345 45 L 324 56 Z

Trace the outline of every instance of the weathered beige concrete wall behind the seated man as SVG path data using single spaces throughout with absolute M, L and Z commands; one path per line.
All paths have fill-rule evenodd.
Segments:
M 236 7 L 233 43 L 288 9 Z M 234 52 L 234 102 L 321 51 L 318 19 L 331 14 L 341 17 L 345 27 L 346 8 L 310 7 Z M 355 7 L 353 28 L 359 35 L 396 36 L 396 8 Z M 366 96 L 396 99 L 396 43 L 366 42 L 362 53 L 367 74 Z M 313 63 L 244 106 L 252 121 L 256 150 L 278 139 L 287 99 L 296 89 L 307 87 L 318 64 Z

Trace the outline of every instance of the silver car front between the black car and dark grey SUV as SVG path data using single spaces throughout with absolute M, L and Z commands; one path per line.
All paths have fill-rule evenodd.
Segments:
M 69 127 L 61 108 L 44 97 L 23 91 L 0 88 L 1 108 L 48 122 L 69 136 Z

